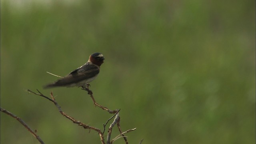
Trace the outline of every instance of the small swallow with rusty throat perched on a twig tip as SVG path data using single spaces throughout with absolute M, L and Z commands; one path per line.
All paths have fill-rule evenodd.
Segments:
M 76 70 L 73 70 L 65 76 L 62 79 L 57 80 L 56 82 L 52 84 L 48 84 L 44 86 L 44 88 L 54 88 L 54 87 L 82 87 L 87 88 L 94 80 L 99 72 L 100 72 L 100 66 L 104 62 L 104 56 L 98 52 L 93 53 L 89 56 L 88 62 L 86 62 L 84 65 L 80 66 Z

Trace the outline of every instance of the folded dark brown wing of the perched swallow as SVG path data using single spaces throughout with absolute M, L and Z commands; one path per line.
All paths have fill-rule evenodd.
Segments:
M 82 80 L 86 80 L 88 78 L 92 78 L 96 76 L 100 72 L 100 69 L 94 64 L 89 64 L 88 62 L 77 68 L 76 70 L 70 72 L 68 76 L 56 81 L 54 84 L 49 84 L 46 87 L 53 86 L 66 86 L 72 83 L 80 82 Z

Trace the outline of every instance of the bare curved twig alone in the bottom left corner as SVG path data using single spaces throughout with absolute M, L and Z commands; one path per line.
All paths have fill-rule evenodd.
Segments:
M 12 114 L 11 112 L 5 110 L 4 108 L 0 108 L 1 112 L 4 112 L 6 114 L 8 114 L 9 116 L 12 116 L 13 118 L 15 118 L 16 120 L 18 120 L 23 126 L 25 126 L 25 128 L 32 133 L 32 135 L 34 137 L 36 137 L 36 139 L 41 143 L 44 144 L 44 142 L 42 141 L 42 139 L 36 134 L 36 132 L 34 132 L 20 117 L 15 116 L 14 114 Z

